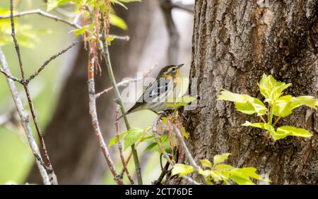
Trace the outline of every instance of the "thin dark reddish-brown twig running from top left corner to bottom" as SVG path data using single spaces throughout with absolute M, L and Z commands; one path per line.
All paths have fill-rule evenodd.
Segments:
M 22 79 L 25 80 L 25 75 L 24 75 L 24 70 L 23 70 L 23 65 L 22 65 L 22 59 L 21 59 L 21 56 L 20 56 L 20 47 L 19 47 L 19 44 L 18 44 L 18 41 L 16 40 L 16 31 L 15 31 L 15 28 L 14 28 L 14 20 L 13 20 L 13 0 L 10 1 L 10 20 L 11 20 L 11 36 L 13 38 L 13 42 L 14 42 L 14 45 L 16 47 L 16 53 L 18 55 L 18 60 L 19 60 L 19 66 L 20 66 L 20 72 L 21 72 L 21 75 L 22 75 Z M 45 142 L 44 142 L 44 138 L 43 138 L 43 135 L 42 135 L 42 131 L 41 131 L 41 128 L 40 128 L 40 125 L 39 123 L 37 122 L 37 116 L 35 114 L 35 109 L 34 109 L 34 105 L 33 105 L 33 100 L 30 96 L 30 91 L 29 91 L 29 88 L 28 88 L 28 85 L 27 84 L 23 84 L 23 88 L 25 90 L 25 95 L 28 99 L 28 104 L 29 104 L 29 107 L 30 107 L 30 111 L 31 111 L 31 114 L 33 116 L 33 123 L 35 124 L 35 129 L 37 131 L 37 135 L 39 136 L 39 139 L 40 139 L 40 144 L 41 144 L 41 147 L 42 147 L 42 152 L 43 152 L 43 155 L 45 155 L 45 164 L 47 166 L 47 174 L 49 175 L 49 181 L 51 182 L 51 184 L 57 184 L 57 176 L 54 174 L 54 170 L 53 170 L 53 167 L 52 167 L 52 164 L 49 160 L 49 155 L 47 153 L 47 148 L 45 147 Z

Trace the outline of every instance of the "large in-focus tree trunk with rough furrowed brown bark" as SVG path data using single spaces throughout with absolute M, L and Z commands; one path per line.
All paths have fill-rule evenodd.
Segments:
M 228 164 L 256 167 L 273 184 L 318 183 L 317 111 L 298 108 L 278 123 L 306 128 L 311 138 L 275 142 L 264 131 L 240 126 L 257 121 L 255 115 L 216 101 L 221 89 L 261 97 L 257 83 L 263 73 L 293 83 L 289 95 L 317 97 L 317 10 L 317 0 L 196 1 L 190 78 L 197 81 L 189 89 L 199 100 L 183 121 L 196 161 L 230 152 Z

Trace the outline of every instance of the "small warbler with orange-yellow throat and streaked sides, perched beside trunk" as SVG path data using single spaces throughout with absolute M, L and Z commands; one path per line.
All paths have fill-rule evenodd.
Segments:
M 162 111 L 167 111 L 168 109 L 173 109 L 169 104 L 173 104 L 173 99 L 176 98 L 179 88 L 181 85 L 181 80 L 179 78 L 179 69 L 184 64 L 179 65 L 169 65 L 163 67 L 155 80 L 148 85 L 143 95 L 139 97 L 139 100 L 134 104 L 131 109 L 122 114 L 118 119 L 121 119 L 127 114 L 134 113 L 141 110 L 151 110 L 158 114 Z M 170 97 L 172 97 L 172 102 L 169 102 Z M 118 120 L 117 119 L 117 120 Z

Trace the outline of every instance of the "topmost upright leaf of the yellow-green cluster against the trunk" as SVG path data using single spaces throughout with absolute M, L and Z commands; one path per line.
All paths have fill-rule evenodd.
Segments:
M 272 104 L 278 97 L 281 97 L 283 90 L 288 88 L 291 83 L 282 83 L 278 80 L 275 80 L 273 76 L 266 76 L 263 74 L 261 80 L 259 81 L 259 90 L 261 95 L 266 98 L 266 102 Z

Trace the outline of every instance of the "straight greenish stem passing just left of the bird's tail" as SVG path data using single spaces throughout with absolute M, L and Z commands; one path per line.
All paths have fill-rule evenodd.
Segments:
M 116 99 L 117 100 L 117 104 L 119 104 L 120 111 L 122 111 L 122 114 L 124 114 L 125 113 L 124 103 L 122 102 L 122 97 L 121 97 L 121 95 L 119 93 L 119 90 L 118 90 L 118 87 L 117 87 L 117 83 L 116 83 L 116 79 L 114 78 L 114 73 L 112 71 L 112 64 L 110 63 L 110 52 L 108 51 L 108 45 L 107 45 L 107 42 L 106 42 L 106 38 L 105 38 L 105 42 L 103 42 L 101 47 L 102 47 L 102 56 L 103 56 L 103 58 L 105 60 L 106 68 L 107 68 L 107 71 L 108 71 L 108 75 L 109 75 L 110 80 L 112 82 L 112 86 L 114 88 L 115 96 L 117 97 L 117 99 Z M 129 131 L 129 129 L 131 127 L 130 127 L 129 121 L 128 121 L 126 116 L 124 116 L 124 122 L 126 124 L 127 131 Z M 140 167 L 139 157 L 138 157 L 138 153 L 137 153 L 135 144 L 131 145 L 131 152 L 132 152 L 133 157 L 134 157 L 134 164 L 135 164 L 135 168 L 136 168 L 136 175 L 137 175 L 138 183 L 139 183 L 139 185 L 142 185 L 143 184 L 143 180 L 142 180 L 142 176 L 141 176 L 141 167 Z

